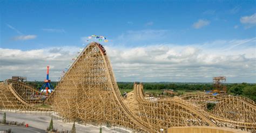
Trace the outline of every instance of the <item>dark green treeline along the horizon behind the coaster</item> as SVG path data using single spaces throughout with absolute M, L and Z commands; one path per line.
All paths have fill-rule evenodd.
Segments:
M 30 86 L 39 88 L 44 84 L 43 82 L 26 82 Z M 57 82 L 51 82 L 53 87 L 56 87 Z M 119 89 L 133 89 L 133 82 L 117 82 Z M 227 93 L 231 95 L 242 95 L 256 101 L 256 84 L 226 84 Z M 213 90 L 212 83 L 169 83 L 169 82 L 158 82 L 158 83 L 143 83 L 145 90 L 185 90 L 185 91 L 207 91 Z

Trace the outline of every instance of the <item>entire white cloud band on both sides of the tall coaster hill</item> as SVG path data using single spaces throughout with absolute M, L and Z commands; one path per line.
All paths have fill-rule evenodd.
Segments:
M 255 42 L 256 39 L 252 38 L 186 46 L 105 48 L 117 81 L 212 82 L 214 76 L 226 76 L 227 82 L 255 82 Z M 78 49 L 61 47 L 23 51 L 0 48 L 1 80 L 14 75 L 43 80 L 46 65 L 50 65 L 50 78 L 56 80 Z

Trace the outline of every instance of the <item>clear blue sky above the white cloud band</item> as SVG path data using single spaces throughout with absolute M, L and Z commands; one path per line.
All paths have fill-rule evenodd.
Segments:
M 252 63 L 248 65 L 249 68 L 252 67 L 248 71 L 255 72 L 255 68 L 253 69 L 255 67 L 255 1 L 1 1 L 0 3 L 2 50 L 16 49 L 26 52 L 57 47 L 75 49 L 82 47 L 84 37 L 97 34 L 109 39 L 109 42 L 103 43 L 110 49 L 109 51 L 167 46 L 180 47 L 176 53 L 182 53 L 183 49 L 193 47 L 204 53 L 212 51 L 212 55 L 220 53 L 215 54 L 218 57 L 244 55 L 246 61 L 250 60 Z M 223 48 L 227 50 L 222 51 Z M 248 51 L 252 53 L 246 55 Z M 230 54 L 226 55 L 226 53 Z M 125 71 L 118 71 L 113 55 L 109 53 L 113 58 L 114 71 L 117 71 L 115 71 L 117 80 L 145 82 L 154 80 L 147 77 L 143 79 L 144 72 L 137 77 L 122 77 L 121 73 Z M 3 62 L 2 67 L 5 65 Z M 15 64 L 15 61 L 12 63 Z M 56 71 L 61 70 L 56 69 Z M 225 74 L 224 71 L 226 70 L 220 71 L 219 75 Z M 256 81 L 255 75 L 241 78 L 237 72 L 241 74 L 244 70 L 236 69 L 234 75 L 230 77 L 231 82 Z M 131 73 L 130 71 L 127 75 Z M 2 74 L 1 79 L 10 75 Z M 41 75 L 35 75 L 33 78 L 43 79 L 39 76 Z M 140 76 L 141 78 L 138 78 Z M 156 78 L 156 81 L 158 79 Z M 200 77 L 198 80 L 163 77 L 159 81 L 162 79 L 170 82 L 211 82 L 210 77 L 206 80 L 200 80 Z

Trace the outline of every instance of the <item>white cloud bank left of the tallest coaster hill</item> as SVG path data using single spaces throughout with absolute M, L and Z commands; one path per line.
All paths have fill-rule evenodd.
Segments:
M 11 76 L 26 76 L 28 80 L 44 80 L 46 65 L 50 65 L 50 78 L 55 80 L 77 54 L 77 47 L 33 50 L 0 48 L 0 80 Z

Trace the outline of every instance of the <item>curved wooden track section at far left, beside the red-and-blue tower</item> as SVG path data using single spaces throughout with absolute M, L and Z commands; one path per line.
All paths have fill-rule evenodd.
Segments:
M 22 86 L 21 90 L 16 85 L 20 85 L 19 87 Z M 40 107 L 38 105 L 38 101 L 40 100 L 33 97 L 33 92 L 37 91 L 24 83 L 6 80 L 5 83 L 0 83 L 0 108 L 3 110 L 14 110 L 16 112 L 26 110 L 52 111 L 51 108 Z

